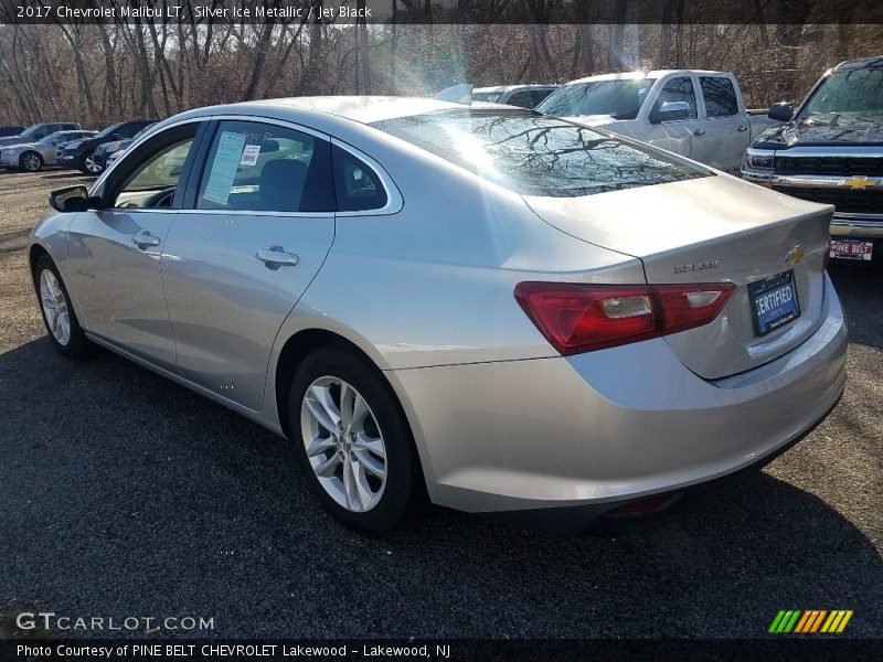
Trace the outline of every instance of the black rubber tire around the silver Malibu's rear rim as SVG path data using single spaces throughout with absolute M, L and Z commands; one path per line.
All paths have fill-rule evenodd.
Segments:
M 307 457 L 301 433 L 301 404 L 310 385 L 325 376 L 342 380 L 359 392 L 383 436 L 386 483 L 377 503 L 364 512 L 353 512 L 334 501 L 319 482 Z M 334 519 L 368 536 L 384 535 L 418 519 L 427 500 L 414 439 L 395 394 L 373 365 L 345 345 L 317 350 L 295 373 L 288 413 L 295 452 L 304 476 L 310 490 Z

